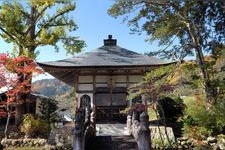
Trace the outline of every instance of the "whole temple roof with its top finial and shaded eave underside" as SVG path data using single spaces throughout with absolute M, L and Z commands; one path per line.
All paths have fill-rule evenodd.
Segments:
M 116 43 L 116 39 L 112 39 L 112 36 L 109 35 L 109 38 L 104 40 L 104 45 L 93 51 L 68 59 L 39 62 L 38 64 L 54 77 L 74 86 L 76 71 L 79 72 L 81 69 L 115 71 L 115 68 L 117 70 L 129 68 L 129 70 L 139 71 L 143 74 L 143 68 L 172 63 L 127 50 Z

